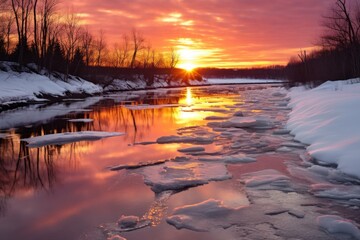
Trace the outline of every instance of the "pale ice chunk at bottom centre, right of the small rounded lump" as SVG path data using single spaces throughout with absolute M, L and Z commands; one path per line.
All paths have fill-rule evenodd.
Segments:
M 226 219 L 234 210 L 224 206 L 221 201 L 209 199 L 195 205 L 176 208 L 173 214 L 166 219 L 166 222 L 177 229 L 186 228 L 206 232 L 216 227 L 218 222 Z M 223 224 L 226 223 L 223 222 Z M 226 227 L 231 225 L 228 224 Z

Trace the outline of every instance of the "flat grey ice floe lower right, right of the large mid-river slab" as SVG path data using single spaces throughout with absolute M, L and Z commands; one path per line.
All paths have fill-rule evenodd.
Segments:
M 248 188 L 259 190 L 292 191 L 290 178 L 274 169 L 266 169 L 242 175 L 242 182 Z

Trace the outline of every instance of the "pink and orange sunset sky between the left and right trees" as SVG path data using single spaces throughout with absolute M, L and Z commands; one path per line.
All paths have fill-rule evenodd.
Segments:
M 182 66 L 242 68 L 286 64 L 317 42 L 331 0 L 63 0 L 109 45 L 136 28 Z

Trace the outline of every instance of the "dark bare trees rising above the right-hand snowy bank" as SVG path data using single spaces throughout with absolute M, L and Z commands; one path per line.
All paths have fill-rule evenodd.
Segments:
M 286 72 L 292 83 L 318 85 L 360 77 L 359 4 L 359 0 L 335 0 L 323 18 L 319 48 L 310 53 L 301 51 L 288 63 Z

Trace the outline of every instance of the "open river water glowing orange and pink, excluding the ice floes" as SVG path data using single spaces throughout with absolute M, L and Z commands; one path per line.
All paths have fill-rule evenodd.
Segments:
M 238 239 L 244 235 L 244 229 L 239 226 L 199 233 L 176 230 L 165 219 L 177 207 L 208 199 L 222 200 L 233 208 L 254 204 L 251 195 L 259 196 L 259 193 L 246 191 L 239 181 L 245 173 L 270 168 L 291 177 L 288 163 L 300 162 L 299 155 L 304 154 L 305 149 L 277 151 L 281 144 L 292 141 L 289 134 L 273 134 L 284 127 L 290 111 L 286 108 L 285 96 L 277 91 L 277 86 L 271 85 L 160 89 L 74 99 L 2 113 L 0 129 L 5 137 L 0 137 L 1 238 L 106 239 L 116 232 L 105 236 L 99 226 L 116 226 L 120 216 L 135 215 L 149 219 L 152 226 L 119 233 L 127 239 Z M 219 122 L 238 111 L 245 116 L 268 116 L 273 125 L 241 132 L 218 127 Z M 205 120 L 207 117 L 224 120 Z M 84 118 L 93 121 L 68 121 Z M 26 142 L 20 141 L 45 134 L 95 130 L 126 135 L 40 148 L 28 148 Z M 213 137 L 214 141 L 195 145 L 203 146 L 205 153 L 193 155 L 177 151 L 193 147 L 192 143 L 155 143 L 159 137 L 171 135 Z M 138 170 L 109 170 L 119 164 L 150 163 L 179 156 L 190 157 L 188 161 L 193 162 L 197 161 L 197 155 L 238 153 L 256 158 L 257 162 L 228 165 L 230 180 L 210 182 L 165 196 L 151 191 Z M 295 192 L 305 196 L 305 200 L 295 199 L 302 203 L 322 202 L 325 209 L 329 208 L 327 201 L 306 193 L 305 180 L 293 178 L 293 181 L 297 183 Z M 279 193 L 269 194 L 268 199 L 272 199 Z M 292 195 L 280 198 L 287 197 L 294 201 Z M 258 227 L 254 229 L 263 229 L 263 224 L 257 222 L 254 226 Z M 280 230 L 278 235 L 288 237 Z M 311 230 L 312 236 L 318 239 L 331 239 L 322 235 L 323 232 Z M 254 233 L 245 235 L 251 237 L 251 234 Z M 269 234 L 276 235 L 271 231 Z

